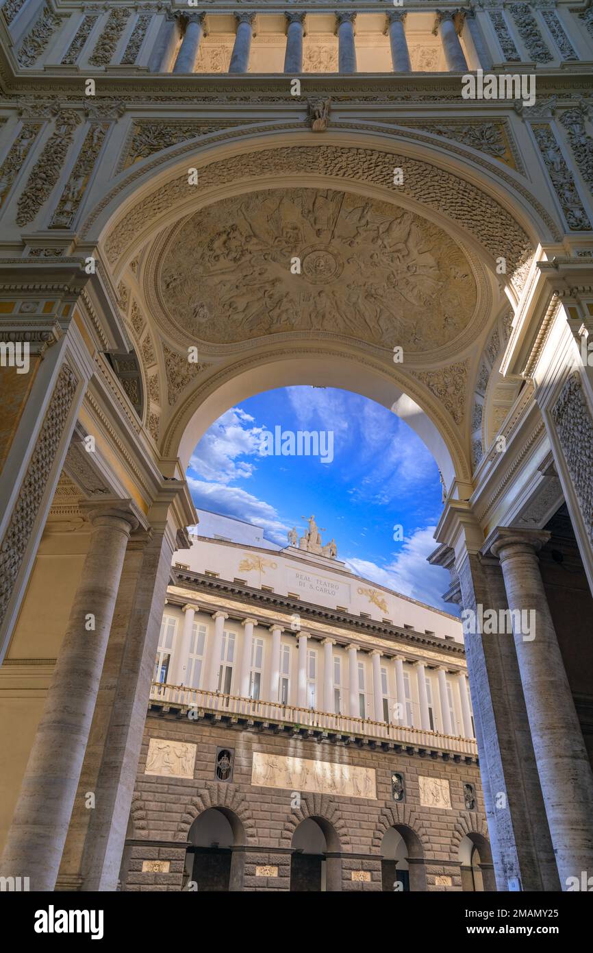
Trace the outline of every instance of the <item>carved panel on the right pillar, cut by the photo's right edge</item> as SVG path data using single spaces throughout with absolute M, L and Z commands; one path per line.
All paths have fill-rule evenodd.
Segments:
M 564 383 L 552 407 L 552 419 L 579 500 L 585 532 L 593 543 L 593 419 L 577 372 Z

